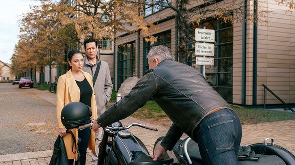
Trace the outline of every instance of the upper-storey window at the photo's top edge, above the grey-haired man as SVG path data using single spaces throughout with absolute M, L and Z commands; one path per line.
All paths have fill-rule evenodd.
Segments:
M 166 2 L 166 0 L 146 0 L 146 5 L 144 6 L 144 16 L 149 16 L 165 9 L 164 5 L 167 5 Z

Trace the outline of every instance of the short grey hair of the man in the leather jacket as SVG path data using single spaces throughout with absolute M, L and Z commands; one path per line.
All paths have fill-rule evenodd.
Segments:
M 158 59 L 159 62 L 162 62 L 164 60 L 174 60 L 174 57 L 172 55 L 170 48 L 163 45 L 153 46 L 149 54 L 147 54 L 146 56 L 146 58 L 150 58 L 150 57 Z

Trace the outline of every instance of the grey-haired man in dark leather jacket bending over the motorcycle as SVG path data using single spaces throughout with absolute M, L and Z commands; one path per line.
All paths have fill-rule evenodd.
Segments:
M 183 133 L 199 145 L 204 164 L 238 164 L 242 127 L 230 105 L 195 68 L 174 61 L 169 48 L 153 47 L 150 69 L 131 92 L 93 122 L 93 130 L 127 118 L 150 98 L 173 121 L 153 160 L 163 159 Z

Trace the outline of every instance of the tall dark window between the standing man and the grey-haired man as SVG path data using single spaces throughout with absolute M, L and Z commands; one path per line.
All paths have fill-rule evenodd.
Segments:
M 122 82 L 128 77 L 135 76 L 135 42 L 122 44 L 118 46 L 119 58 L 119 82 Z

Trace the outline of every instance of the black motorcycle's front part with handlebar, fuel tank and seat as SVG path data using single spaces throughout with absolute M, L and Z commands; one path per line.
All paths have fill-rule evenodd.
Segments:
M 148 156 L 150 153 L 143 142 L 128 130 L 133 126 L 158 130 L 158 128 L 138 123 L 132 123 L 125 127 L 120 121 L 107 126 L 104 128 L 102 141 L 99 145 L 97 164 L 172 164 L 173 158 L 153 161 Z

